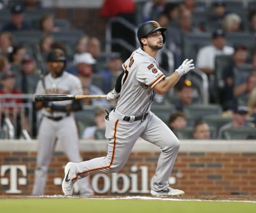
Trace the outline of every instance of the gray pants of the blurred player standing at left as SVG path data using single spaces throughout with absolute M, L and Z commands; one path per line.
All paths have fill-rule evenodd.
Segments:
M 82 161 L 79 154 L 79 139 L 74 117 L 68 116 L 60 121 L 53 121 L 47 117 L 43 117 L 38 132 L 38 154 L 33 195 L 44 194 L 47 171 L 54 151 L 56 138 L 60 141 L 69 161 L 75 163 Z M 90 186 L 89 177 L 79 180 L 77 184 L 80 195 L 94 194 Z

